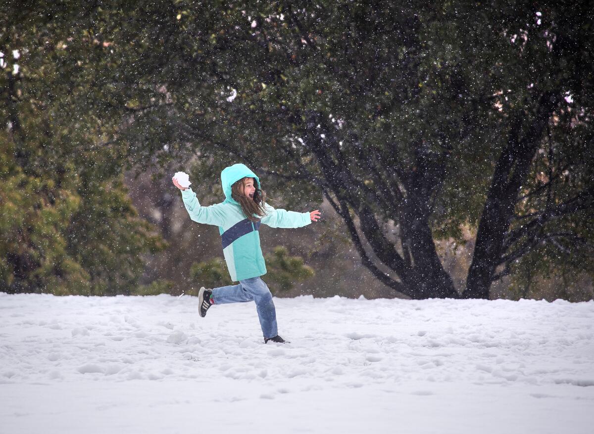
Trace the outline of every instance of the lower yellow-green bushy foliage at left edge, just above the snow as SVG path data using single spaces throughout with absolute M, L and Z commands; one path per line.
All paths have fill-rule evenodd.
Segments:
M 45 159 L 44 148 L 26 143 Z M 89 180 L 89 173 L 75 170 L 67 155 L 60 156 L 66 167 L 58 171 L 31 159 L 19 164 L 13 143 L 5 144 L 0 151 L 5 163 L 0 175 L 0 291 L 130 293 L 143 272 L 143 254 L 165 244 L 138 218 L 121 175 Z M 93 164 L 101 170 L 100 161 Z

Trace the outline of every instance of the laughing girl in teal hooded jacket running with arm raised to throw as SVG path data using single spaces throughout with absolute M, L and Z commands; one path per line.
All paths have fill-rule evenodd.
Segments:
M 266 203 L 260 178 L 244 164 L 233 164 L 221 172 L 225 200 L 211 206 L 200 206 L 191 188 L 182 187 L 175 177 L 173 184 L 182 190 L 182 199 L 192 220 L 219 226 L 223 241 L 223 255 L 233 282 L 212 291 L 201 288 L 198 293 L 200 316 L 213 304 L 255 301 L 264 334 L 264 343 L 285 343 L 279 336 L 276 310 L 270 289 L 260 276 L 266 274 L 266 264 L 260 248 L 260 224 L 272 228 L 301 228 L 318 221 L 320 211 L 293 212 L 274 209 Z

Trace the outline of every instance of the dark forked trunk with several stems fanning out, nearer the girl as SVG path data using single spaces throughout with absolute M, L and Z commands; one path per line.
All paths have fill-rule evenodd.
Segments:
M 324 139 L 321 139 L 318 126 L 324 129 Z M 395 193 L 393 189 L 388 189 L 390 183 L 383 183 L 378 189 L 366 189 L 365 184 L 350 172 L 345 155 L 325 125 L 324 116 L 319 113 L 310 114 L 307 131 L 305 145 L 320 164 L 327 182 L 328 199 L 333 202 L 331 195 L 338 199 L 339 203 L 333 202 L 334 208 L 349 228 L 351 238 L 361 255 L 362 264 L 376 277 L 381 276 L 380 280 L 383 283 L 410 298 L 457 298 L 459 294 L 441 264 L 429 227 L 429 199 L 434 187 L 443 181 L 444 173 L 441 167 L 432 165 L 429 159 L 425 158 L 422 145 L 418 146 L 416 152 L 417 164 L 408 171 L 399 170 L 406 190 L 405 198 L 403 192 Z M 386 173 L 386 167 L 375 167 L 374 171 L 376 174 Z M 396 185 L 396 182 L 392 181 L 392 184 Z M 391 202 L 387 206 L 393 210 L 394 221 L 402 225 L 405 233 L 407 243 L 403 248 L 403 255 L 398 252 L 397 245 L 388 240 L 377 221 L 372 204 L 381 203 L 382 200 L 374 196 L 392 196 L 399 202 Z M 350 210 L 358 217 L 359 228 L 375 259 L 370 258 L 365 252 Z M 390 275 L 381 272 L 380 266 L 390 269 Z

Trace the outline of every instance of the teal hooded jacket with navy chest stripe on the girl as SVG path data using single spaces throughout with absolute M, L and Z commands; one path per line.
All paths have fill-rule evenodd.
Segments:
M 244 177 L 255 178 L 260 189 L 260 178 L 244 164 L 233 164 L 221 172 L 225 200 L 216 205 L 201 206 L 192 189 L 182 191 L 182 199 L 190 218 L 198 223 L 219 226 L 223 242 L 223 255 L 233 282 L 266 274 L 266 263 L 260 248 L 260 224 L 271 228 L 301 228 L 311 223 L 308 212 L 274 209 L 266 205 L 266 216 L 251 222 L 239 203 L 231 197 L 231 186 Z

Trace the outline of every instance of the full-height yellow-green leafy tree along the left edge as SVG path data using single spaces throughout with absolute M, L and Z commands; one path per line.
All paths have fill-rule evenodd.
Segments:
M 163 242 L 127 197 L 125 153 L 103 141 L 122 117 L 89 98 L 99 43 L 72 26 L 84 11 L 37 8 L 2 7 L 0 290 L 131 293 Z

